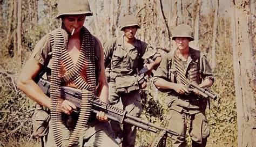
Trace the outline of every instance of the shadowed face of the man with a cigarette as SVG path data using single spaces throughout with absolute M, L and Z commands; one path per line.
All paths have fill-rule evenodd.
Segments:
M 65 15 L 62 17 L 62 20 L 66 30 L 71 33 L 73 28 L 75 28 L 74 34 L 76 34 L 84 26 L 85 17 L 85 14 Z

